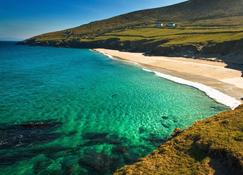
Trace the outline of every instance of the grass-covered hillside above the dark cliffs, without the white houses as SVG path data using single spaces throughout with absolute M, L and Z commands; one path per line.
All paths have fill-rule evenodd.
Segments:
M 95 42 L 116 38 L 123 41 L 149 40 L 157 46 L 207 44 L 243 39 L 243 0 L 190 0 L 147 9 L 75 28 L 33 37 L 34 42 L 62 46 L 60 42 Z M 176 22 L 176 29 L 156 28 L 158 22 Z M 28 40 L 27 40 L 28 41 Z M 33 42 L 34 41 L 34 42 Z M 28 42 L 27 42 L 28 43 Z M 65 44 L 64 44 L 65 45 Z M 68 44 L 67 44 L 68 45 Z M 155 45 L 156 46 L 156 45 Z

